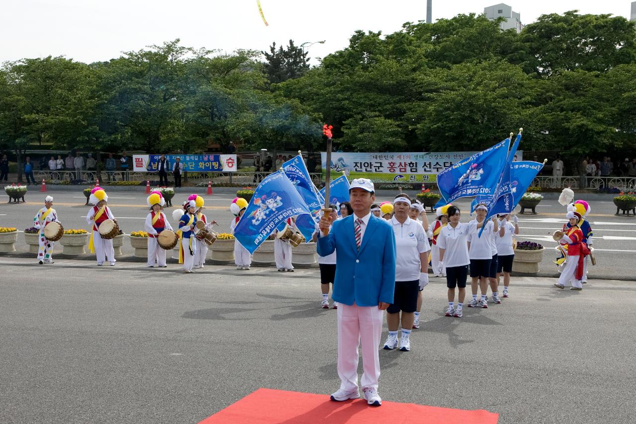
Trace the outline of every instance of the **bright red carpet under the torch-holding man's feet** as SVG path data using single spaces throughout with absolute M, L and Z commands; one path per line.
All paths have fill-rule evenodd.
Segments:
M 333 402 L 328 395 L 260 388 L 199 424 L 408 423 L 496 424 L 499 414 L 397 402 L 371 407 L 366 400 Z

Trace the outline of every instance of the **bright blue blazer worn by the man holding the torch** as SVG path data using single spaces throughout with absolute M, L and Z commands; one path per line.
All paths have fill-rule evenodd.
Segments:
M 328 237 L 319 237 L 318 254 L 336 250 L 333 299 L 345 305 L 393 303 L 396 283 L 396 239 L 391 225 L 371 214 L 360 250 L 356 247 L 353 216 L 333 223 Z

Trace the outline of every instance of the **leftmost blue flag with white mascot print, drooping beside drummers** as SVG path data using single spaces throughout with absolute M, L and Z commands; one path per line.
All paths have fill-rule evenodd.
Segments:
M 234 236 L 249 253 L 254 253 L 273 230 L 287 218 L 300 215 L 296 218 L 298 222 L 303 214 L 313 220 L 307 204 L 289 178 L 282 172 L 269 174 L 254 190 L 245 213 L 234 229 Z M 313 233 L 312 226 L 311 232 L 309 234 L 303 232 L 303 236 L 309 240 Z

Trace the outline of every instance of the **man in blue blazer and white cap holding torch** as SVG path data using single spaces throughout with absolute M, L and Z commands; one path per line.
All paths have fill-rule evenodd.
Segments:
M 384 309 L 393 302 L 396 241 L 391 225 L 371 214 L 375 188 L 371 180 L 351 181 L 349 197 L 354 214 L 333 222 L 322 216 L 317 251 L 326 256 L 336 250 L 333 300 L 338 302 L 338 376 L 340 389 L 331 400 L 358 399 L 358 346 L 362 344 L 364 399 L 380 406 L 378 395 Z

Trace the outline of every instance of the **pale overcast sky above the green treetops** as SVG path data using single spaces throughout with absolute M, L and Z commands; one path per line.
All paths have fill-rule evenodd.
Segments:
M 433 20 L 459 13 L 483 13 L 496 3 L 433 0 Z M 544 13 L 611 13 L 630 16 L 628 0 L 510 1 L 523 24 Z M 232 52 L 267 50 L 272 41 L 296 45 L 325 40 L 309 48 L 324 57 L 349 44 L 357 29 L 398 31 L 404 22 L 426 18 L 426 0 L 5 0 L 1 6 L 0 61 L 64 55 L 81 62 L 119 57 L 121 52 L 180 38 L 182 45 Z M 316 64 L 317 60 L 312 60 Z

